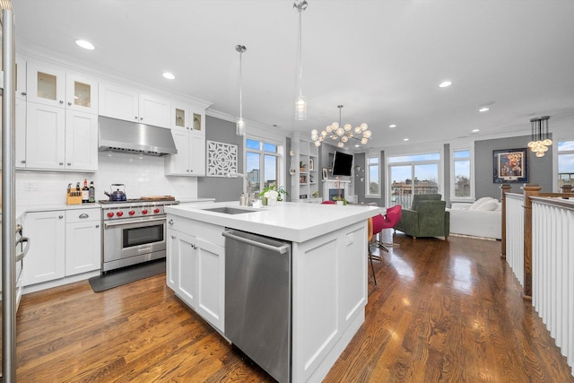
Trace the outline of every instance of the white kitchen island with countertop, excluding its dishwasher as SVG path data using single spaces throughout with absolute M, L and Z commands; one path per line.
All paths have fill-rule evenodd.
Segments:
M 325 378 L 364 321 L 368 218 L 378 207 L 278 203 L 252 213 L 166 206 L 167 283 L 225 336 L 225 228 L 291 241 L 291 380 Z

